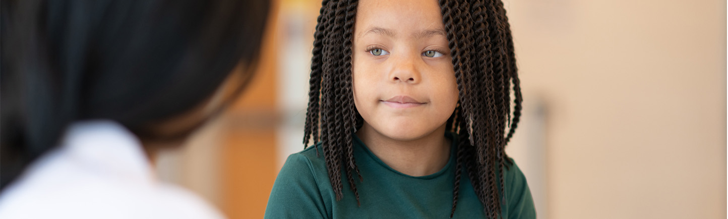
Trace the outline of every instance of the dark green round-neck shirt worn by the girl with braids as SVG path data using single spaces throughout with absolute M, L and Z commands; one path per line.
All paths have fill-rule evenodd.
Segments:
M 265 218 L 450 218 L 457 146 L 453 136 L 446 133 L 452 146 L 443 170 L 414 177 L 384 164 L 354 135 L 354 157 L 364 178 L 360 182 L 355 177 L 361 206 L 357 206 L 345 176 L 341 177 L 344 198 L 336 201 L 323 153 L 316 156 L 314 147 L 309 147 L 291 154 L 275 180 Z M 536 218 L 523 172 L 513 163 L 503 176 L 507 198 L 502 203 L 503 218 Z M 460 183 L 453 218 L 486 218 L 467 172 Z

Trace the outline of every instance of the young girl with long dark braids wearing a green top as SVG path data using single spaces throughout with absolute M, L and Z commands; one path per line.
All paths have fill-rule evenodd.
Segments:
M 316 144 L 288 157 L 266 218 L 536 218 L 504 151 L 521 92 L 501 1 L 324 0 L 320 13 Z

